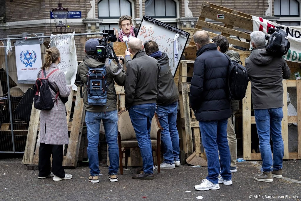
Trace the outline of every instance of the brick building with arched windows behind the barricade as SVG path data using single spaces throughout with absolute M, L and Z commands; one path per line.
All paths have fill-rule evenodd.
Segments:
M 59 33 L 50 11 L 59 0 L 0 1 L 0 37 L 19 37 L 23 32 L 39 36 Z M 285 25 L 301 24 L 301 0 L 207 0 L 247 14 L 268 18 Z M 131 15 L 139 27 L 143 15 L 152 16 L 182 29 L 194 28 L 203 1 L 199 0 L 61 0 L 80 18 L 67 19 L 64 33 L 98 32 L 117 28 L 119 16 Z M 72 16 L 71 16 L 72 17 Z M 77 16 L 79 17 L 79 16 Z

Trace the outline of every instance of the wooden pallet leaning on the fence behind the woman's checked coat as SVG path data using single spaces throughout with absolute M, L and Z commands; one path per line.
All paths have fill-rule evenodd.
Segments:
M 74 100 L 75 98 L 75 100 Z M 75 102 L 74 111 L 71 111 L 72 103 Z M 82 125 L 84 121 L 84 103 L 80 98 L 80 87 L 76 91 L 71 91 L 68 102 L 65 103 L 67 110 L 67 122 L 68 131 L 70 131 L 69 144 L 67 146 L 66 155 L 63 156 L 63 166 L 76 167 L 79 146 L 82 135 Z M 73 112 L 73 120 L 70 120 L 70 114 Z M 40 110 L 37 110 L 32 106 L 29 128 L 27 133 L 26 147 L 23 156 L 23 164 L 25 165 L 37 165 L 39 161 L 39 147 L 40 147 L 40 135 L 39 135 L 39 118 Z

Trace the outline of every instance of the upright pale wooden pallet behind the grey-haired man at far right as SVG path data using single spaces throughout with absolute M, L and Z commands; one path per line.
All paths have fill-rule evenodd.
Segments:
M 284 143 L 283 159 L 301 159 L 301 80 L 283 80 L 283 119 L 281 133 Z M 243 99 L 243 157 L 245 160 L 261 160 L 260 153 L 251 151 L 251 124 L 255 123 L 255 117 L 251 116 L 251 86 L 247 88 L 246 96 Z M 287 87 L 297 89 L 297 116 L 287 116 Z M 298 123 L 298 152 L 288 151 L 288 123 Z

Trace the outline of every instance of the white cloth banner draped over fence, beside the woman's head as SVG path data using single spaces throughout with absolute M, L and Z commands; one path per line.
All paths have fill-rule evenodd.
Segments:
M 64 71 L 67 85 L 73 86 L 73 90 L 77 90 L 74 84 L 77 73 L 77 58 L 74 33 L 51 35 L 51 46 L 57 47 L 60 51 L 61 63 L 58 67 Z

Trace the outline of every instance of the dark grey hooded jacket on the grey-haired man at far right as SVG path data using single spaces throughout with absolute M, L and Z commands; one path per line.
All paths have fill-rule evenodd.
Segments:
M 282 79 L 290 78 L 290 68 L 284 58 L 273 57 L 265 46 L 259 46 L 251 51 L 245 64 L 251 80 L 253 108 L 283 107 Z

